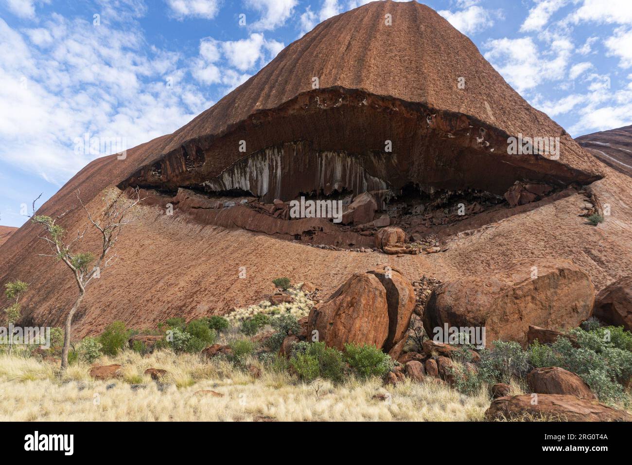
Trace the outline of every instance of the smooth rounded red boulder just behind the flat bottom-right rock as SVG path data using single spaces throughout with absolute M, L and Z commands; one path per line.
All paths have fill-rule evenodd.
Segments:
M 597 399 L 579 376 L 558 366 L 535 368 L 526 375 L 526 382 L 531 392 L 537 394 L 568 394 L 580 399 Z

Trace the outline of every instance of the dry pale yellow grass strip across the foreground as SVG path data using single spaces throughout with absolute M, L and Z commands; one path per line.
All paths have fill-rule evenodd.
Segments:
M 486 394 L 468 397 L 432 381 L 322 381 L 316 392 L 284 373 L 264 370 L 255 380 L 226 361 L 166 351 L 125 351 L 98 363 L 123 365 L 123 378 L 94 381 L 79 363 L 59 379 L 52 364 L 0 356 L 0 421 L 477 421 L 490 403 Z M 147 368 L 169 372 L 162 387 Z M 194 394 L 203 389 L 224 397 Z M 373 399 L 386 393 L 386 401 Z

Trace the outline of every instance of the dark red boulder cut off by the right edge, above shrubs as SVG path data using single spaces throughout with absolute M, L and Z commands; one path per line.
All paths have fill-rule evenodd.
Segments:
M 605 287 L 595 299 L 593 314 L 608 325 L 632 331 L 632 275 Z

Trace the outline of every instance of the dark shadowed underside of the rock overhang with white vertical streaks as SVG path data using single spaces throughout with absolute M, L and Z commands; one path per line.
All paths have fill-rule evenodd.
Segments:
M 384 189 L 397 195 L 407 185 L 426 193 L 502 195 L 517 180 L 565 187 L 600 178 L 569 163 L 574 142 L 563 130 L 546 135 L 557 138 L 558 159 L 509 154 L 510 138 L 520 136 L 463 113 L 330 87 L 257 111 L 220 134 L 188 140 L 120 186 L 233 191 L 271 202 Z

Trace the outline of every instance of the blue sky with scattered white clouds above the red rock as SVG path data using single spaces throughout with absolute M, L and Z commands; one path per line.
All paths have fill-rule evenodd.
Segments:
M 131 148 L 173 132 L 364 3 L 0 0 L 0 224 L 20 226 L 21 205 L 109 154 L 86 134 Z M 573 137 L 632 123 L 631 0 L 423 3 Z

